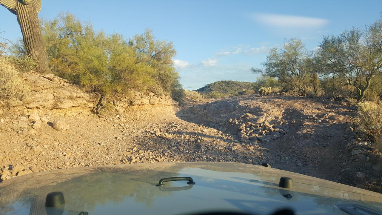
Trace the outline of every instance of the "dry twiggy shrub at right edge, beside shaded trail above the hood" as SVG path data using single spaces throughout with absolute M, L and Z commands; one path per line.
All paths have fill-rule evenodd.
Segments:
M 382 104 L 365 103 L 359 104 L 359 114 L 353 122 L 364 138 L 377 141 L 382 137 Z

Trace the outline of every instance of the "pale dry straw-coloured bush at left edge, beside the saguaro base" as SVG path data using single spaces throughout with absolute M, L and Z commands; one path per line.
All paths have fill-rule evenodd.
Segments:
M 0 99 L 22 99 L 28 87 L 8 57 L 0 57 Z

